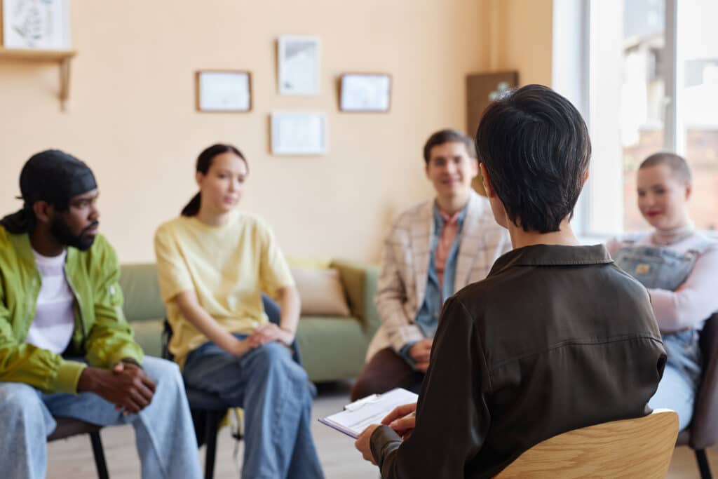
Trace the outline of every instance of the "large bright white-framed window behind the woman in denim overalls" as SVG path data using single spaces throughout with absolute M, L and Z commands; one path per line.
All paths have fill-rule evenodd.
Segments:
M 566 39 L 561 30 L 576 31 L 556 16 L 569 1 L 554 0 L 554 62 L 556 42 Z M 564 93 L 556 84 L 561 75 L 584 78 L 583 98 L 569 96 L 584 105 L 594 146 L 577 229 L 605 236 L 648 228 L 635 204 L 635 172 L 649 154 L 667 150 L 686 157 L 693 170 L 691 218 L 700 229 L 717 230 L 718 1 L 571 5 L 583 12 L 574 14 L 583 23 L 573 41 L 587 60 L 574 61 L 572 72 L 554 65 L 554 88 Z

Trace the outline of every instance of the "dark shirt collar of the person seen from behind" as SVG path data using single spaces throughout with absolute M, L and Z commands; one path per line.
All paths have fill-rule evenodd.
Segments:
M 612 263 L 605 246 L 564 246 L 537 244 L 516 248 L 496 260 L 489 276 L 511 266 L 575 266 L 578 264 Z

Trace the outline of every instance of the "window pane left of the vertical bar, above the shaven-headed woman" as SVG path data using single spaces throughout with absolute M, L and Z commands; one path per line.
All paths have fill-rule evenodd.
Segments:
M 645 157 L 664 149 L 665 18 L 665 0 L 623 0 L 620 136 L 626 231 L 647 228 L 636 206 L 635 172 Z

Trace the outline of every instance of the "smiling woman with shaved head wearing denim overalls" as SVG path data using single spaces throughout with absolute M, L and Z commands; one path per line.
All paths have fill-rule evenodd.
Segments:
M 636 175 L 638 209 L 653 231 L 614 239 L 607 248 L 618 266 L 648 288 L 668 353 L 648 404 L 677 411 L 684 429 L 701 378 L 698 332 L 718 311 L 718 241 L 696 231 L 691 221 L 691 170 L 683 157 L 652 154 Z

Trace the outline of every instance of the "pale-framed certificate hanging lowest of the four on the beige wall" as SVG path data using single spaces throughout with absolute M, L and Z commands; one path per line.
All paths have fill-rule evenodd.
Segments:
M 325 113 L 271 114 L 271 152 L 277 155 L 320 155 L 327 152 Z

